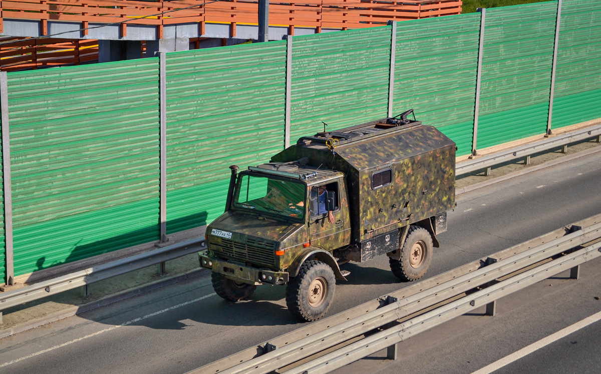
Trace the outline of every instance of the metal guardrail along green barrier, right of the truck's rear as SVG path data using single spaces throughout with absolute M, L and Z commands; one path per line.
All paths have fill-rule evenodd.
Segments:
M 457 164 L 456 175 L 460 176 L 462 174 L 470 173 L 471 171 L 486 169 L 501 164 L 502 162 L 523 158 L 532 155 L 532 153 L 542 152 L 588 138 L 594 138 L 595 136 L 601 136 L 601 124 L 565 133 L 560 136 L 555 136 L 554 138 L 537 141 L 536 143 L 526 144 L 525 146 L 514 149 L 493 153 L 492 155 L 483 156 L 470 161 L 461 162 L 460 164 Z

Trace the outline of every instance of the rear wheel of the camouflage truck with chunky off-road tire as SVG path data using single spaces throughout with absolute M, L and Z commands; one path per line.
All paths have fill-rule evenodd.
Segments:
M 423 277 L 432 262 L 433 247 L 428 230 L 410 226 L 403 248 L 399 248 L 401 259 L 388 257 L 392 274 L 404 281 L 415 281 Z

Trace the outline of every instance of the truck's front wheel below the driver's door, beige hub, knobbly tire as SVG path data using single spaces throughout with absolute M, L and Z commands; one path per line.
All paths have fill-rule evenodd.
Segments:
M 332 304 L 335 285 L 332 268 L 317 260 L 305 261 L 299 274 L 288 281 L 288 310 L 294 317 L 307 322 L 320 319 Z

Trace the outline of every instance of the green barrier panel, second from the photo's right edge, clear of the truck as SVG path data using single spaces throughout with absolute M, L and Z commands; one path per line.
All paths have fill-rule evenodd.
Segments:
M 486 10 L 478 149 L 546 132 L 557 1 Z

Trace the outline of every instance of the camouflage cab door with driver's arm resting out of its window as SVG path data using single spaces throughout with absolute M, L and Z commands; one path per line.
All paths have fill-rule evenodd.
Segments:
M 334 222 L 328 219 L 327 204 L 320 204 L 319 197 L 334 192 Z M 309 232 L 311 245 L 326 251 L 350 244 L 349 204 L 342 178 L 320 186 L 312 186 L 309 194 Z M 317 198 L 316 198 L 317 197 Z

